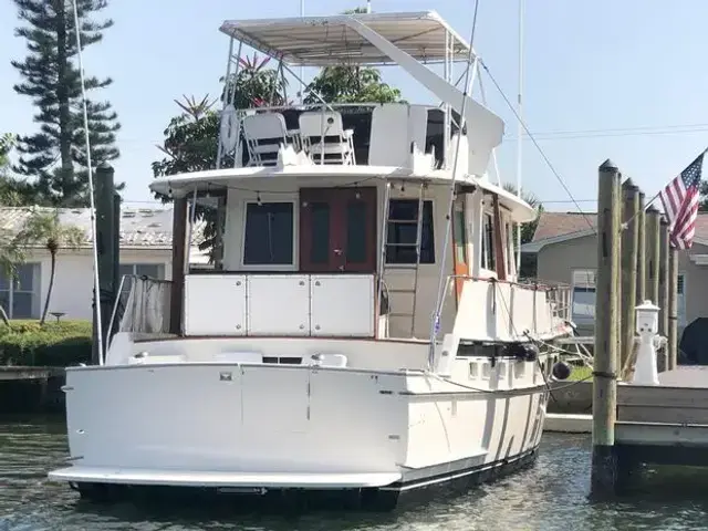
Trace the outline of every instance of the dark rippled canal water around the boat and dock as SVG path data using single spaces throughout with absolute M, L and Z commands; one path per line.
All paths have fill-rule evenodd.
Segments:
M 649 472 L 642 489 L 650 494 L 637 491 L 612 503 L 591 503 L 589 436 L 546 435 L 534 468 L 468 496 L 393 516 L 266 517 L 81 503 L 67 487 L 45 480 L 65 455 L 63 424 L 0 419 L 1 531 L 708 530 L 708 479 L 696 471 Z

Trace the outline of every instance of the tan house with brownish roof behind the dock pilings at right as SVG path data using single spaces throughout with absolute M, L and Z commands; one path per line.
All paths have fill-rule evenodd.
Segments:
M 597 238 L 594 212 L 542 212 L 533 239 L 521 252 L 535 257 L 537 277 L 572 289 L 572 319 L 581 334 L 592 334 L 595 315 Z M 690 291 L 687 291 L 688 290 Z M 678 330 L 708 315 L 708 212 L 699 214 L 694 246 L 678 253 Z

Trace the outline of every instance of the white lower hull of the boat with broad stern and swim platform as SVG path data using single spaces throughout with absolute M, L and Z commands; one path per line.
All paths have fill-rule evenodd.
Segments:
M 451 379 L 278 364 L 72 368 L 72 465 L 50 479 L 97 499 L 191 492 L 392 509 L 532 462 L 548 399 L 543 381 L 533 385 L 541 363 L 455 363 Z

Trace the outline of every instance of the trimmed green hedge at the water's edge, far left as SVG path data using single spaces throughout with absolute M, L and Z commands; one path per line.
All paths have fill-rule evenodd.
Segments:
M 0 365 L 66 367 L 91 361 L 91 321 L 0 323 Z

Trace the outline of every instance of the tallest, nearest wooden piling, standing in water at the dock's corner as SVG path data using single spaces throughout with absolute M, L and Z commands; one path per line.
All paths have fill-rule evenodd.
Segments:
M 591 490 L 614 491 L 617 461 L 614 451 L 617 403 L 617 296 L 620 275 L 620 171 L 605 160 L 598 171 L 597 289 L 595 296 L 595 355 L 593 371 L 593 455 Z

